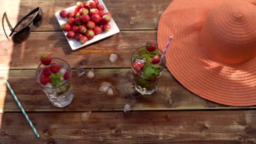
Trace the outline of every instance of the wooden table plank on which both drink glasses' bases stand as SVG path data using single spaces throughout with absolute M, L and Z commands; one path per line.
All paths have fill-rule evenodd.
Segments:
M 85 71 L 88 72 L 88 69 Z M 20 111 L 3 80 L 8 79 L 24 109 L 27 111 L 106 111 L 123 110 L 130 104 L 133 110 L 170 109 L 243 109 L 256 107 L 229 107 L 205 100 L 185 89 L 165 70 L 160 80 L 159 90 L 152 96 L 141 96 L 133 86 L 131 69 L 95 69 L 92 80 L 78 77 L 73 71 L 74 99 L 63 108 L 56 108 L 41 90 L 32 70 L 0 71 L 0 110 L 2 112 Z M 108 81 L 114 85 L 117 94 L 107 96 L 99 91 L 99 85 Z

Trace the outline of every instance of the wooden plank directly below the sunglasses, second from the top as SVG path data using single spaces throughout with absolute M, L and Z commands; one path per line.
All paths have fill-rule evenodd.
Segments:
M 37 68 L 39 58 L 48 53 L 68 61 L 72 68 L 87 59 L 84 67 L 131 67 L 131 54 L 147 40 L 157 39 L 157 31 L 123 31 L 112 37 L 72 51 L 63 32 L 34 32 L 29 39 L 13 45 L 0 34 L 0 69 Z M 109 61 L 111 53 L 117 53 L 115 63 Z

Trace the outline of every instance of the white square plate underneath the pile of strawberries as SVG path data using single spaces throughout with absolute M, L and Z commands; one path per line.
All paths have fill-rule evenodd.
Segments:
M 107 13 L 108 10 L 107 10 L 106 5 L 103 3 L 102 0 L 99 0 L 99 4 L 104 6 L 104 13 Z M 66 11 L 69 13 L 69 12 L 72 12 L 72 11 L 75 9 L 75 7 L 76 7 L 76 5 L 75 5 L 75 6 L 72 6 L 72 7 L 69 7 L 69 8 L 66 8 L 66 9 L 64 9 L 64 10 L 66 10 Z M 66 19 L 62 19 L 61 16 L 59 15 L 60 12 L 61 12 L 61 11 L 56 12 L 56 13 L 55 13 L 55 16 L 56 16 L 56 18 L 57 18 L 59 24 L 61 25 L 61 24 L 67 23 L 67 18 L 66 18 Z M 94 42 L 96 42 L 96 41 L 98 41 L 98 40 L 104 39 L 104 38 L 106 38 L 106 37 L 109 37 L 109 36 L 111 36 L 111 35 L 115 35 L 115 34 L 117 34 L 118 32 L 120 32 L 120 30 L 119 30 L 118 27 L 117 27 L 117 24 L 115 24 L 115 21 L 114 21 L 113 19 L 110 20 L 109 24 L 110 24 L 110 26 L 111 26 L 109 32 L 103 32 L 103 33 L 101 33 L 101 34 L 99 34 L 99 35 L 95 35 L 95 37 L 94 37 L 92 40 L 88 40 L 88 41 L 87 41 L 86 43 L 84 43 L 83 45 L 82 45 L 81 43 L 79 43 L 79 42 L 78 42 L 77 40 L 75 40 L 75 39 L 71 40 L 71 39 L 69 39 L 69 38 L 66 37 L 66 38 L 67 38 L 67 41 L 69 42 L 69 45 L 70 45 L 70 47 L 72 48 L 72 50 L 76 50 L 76 49 L 81 48 L 81 47 L 83 47 L 83 46 L 85 46 L 85 45 L 89 45 L 89 44 L 94 43 Z M 63 32 L 64 32 L 64 31 L 63 31 Z M 67 35 L 67 32 L 64 32 L 64 35 L 66 36 L 66 35 Z

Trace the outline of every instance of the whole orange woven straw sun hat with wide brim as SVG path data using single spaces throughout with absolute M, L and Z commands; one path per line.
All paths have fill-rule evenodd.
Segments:
M 256 105 L 256 0 L 173 0 L 157 42 L 189 91 L 231 106 Z

